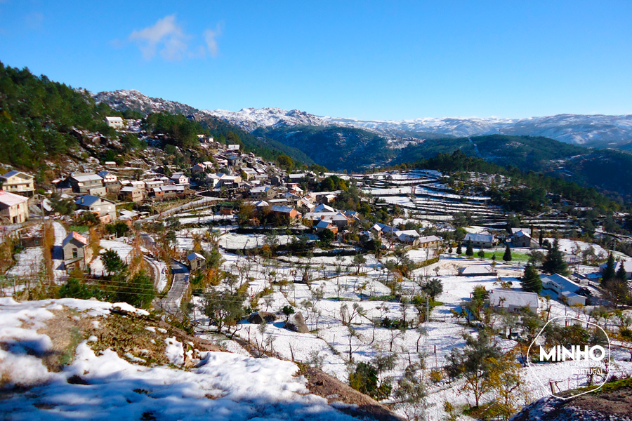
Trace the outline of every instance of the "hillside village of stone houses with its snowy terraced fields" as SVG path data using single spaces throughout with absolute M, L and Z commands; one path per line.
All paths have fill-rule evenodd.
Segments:
M 605 323 L 610 375 L 632 374 L 626 213 L 555 197 L 520 214 L 485 195 L 505 176 L 296 169 L 207 134 L 195 145 L 204 158 L 174 163 L 140 120 L 105 123 L 142 138 L 155 161 L 86 159 L 51 182 L 0 175 L 0 311 L 127 302 L 235 354 L 322 369 L 410 420 L 508 419 L 545 396 L 522 355 L 555 316 Z M 513 396 L 454 370 L 477 334 L 510 361 Z M 187 370 L 183 342 L 167 338 L 166 352 Z M 141 347 L 118 358 L 151 366 Z M 561 382 L 572 368 L 555 366 L 535 372 L 562 390 L 593 381 Z

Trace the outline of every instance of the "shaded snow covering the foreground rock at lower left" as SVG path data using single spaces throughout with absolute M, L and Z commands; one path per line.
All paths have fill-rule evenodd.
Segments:
M 84 300 L 15 302 L 0 298 L 0 376 L 4 387 L 28 387 L 5 394 L 5 420 L 353 420 L 327 400 L 310 394 L 298 367 L 289 361 L 228 352 L 199 352 L 192 368 L 183 343 L 166 340 L 173 366 L 141 366 L 112 349 L 96 353 L 82 340 L 74 361 L 58 372 L 44 364 L 51 338 L 38 333 L 63 307 L 107 316 L 114 305 Z M 120 305 L 128 311 L 134 309 Z M 98 323 L 98 322 L 97 322 Z M 46 332 L 46 330 L 43 330 Z M 40 330 L 41 332 L 41 330 Z M 81 378 L 81 382 L 73 379 Z

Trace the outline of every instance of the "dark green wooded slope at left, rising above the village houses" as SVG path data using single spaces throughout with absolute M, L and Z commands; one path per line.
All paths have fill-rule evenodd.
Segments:
M 166 135 L 157 146 L 164 149 L 171 145 L 169 154 L 174 153 L 173 147 L 179 147 L 183 153 L 175 154 L 178 161 L 187 161 L 184 156 L 199 145 L 197 135 L 206 133 L 220 141 L 242 144 L 246 152 L 265 159 L 277 159 L 284 154 L 298 163 L 314 163 L 298 149 L 275 140 L 260 140 L 213 116 L 195 121 L 182 114 L 147 115 L 142 108 L 124 108 L 120 104 L 118 108 L 112 109 L 105 101 L 97 103 L 87 91 L 77 91 L 47 76 L 35 76 L 27 68 L 8 67 L 0 62 L 0 163 L 38 176 L 48 168 L 48 163 L 56 163 L 62 156 L 78 161 L 93 156 L 100 161 L 122 163 L 124 156 L 133 156 L 147 147 L 140 140 L 143 133 Z M 105 116 L 143 119 L 143 133 L 121 135 L 105 124 Z M 85 145 L 77 131 L 110 141 L 102 142 L 99 147 Z

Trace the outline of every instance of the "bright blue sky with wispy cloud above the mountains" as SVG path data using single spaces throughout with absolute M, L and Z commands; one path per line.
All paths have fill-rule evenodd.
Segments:
M 0 0 L 0 61 L 200 109 L 632 113 L 632 1 Z

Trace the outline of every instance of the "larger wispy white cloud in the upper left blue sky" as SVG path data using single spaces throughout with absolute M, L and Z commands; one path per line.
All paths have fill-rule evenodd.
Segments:
M 151 60 L 159 53 L 164 60 L 178 61 L 185 57 L 203 58 L 206 51 L 215 57 L 218 51 L 216 37 L 220 34 L 220 25 L 217 25 L 215 30 L 206 29 L 203 34 L 206 47 L 201 45 L 190 47 L 193 36 L 187 34 L 176 22 L 176 15 L 169 15 L 159 19 L 150 27 L 133 31 L 129 35 L 129 41 L 138 45 L 145 60 Z

